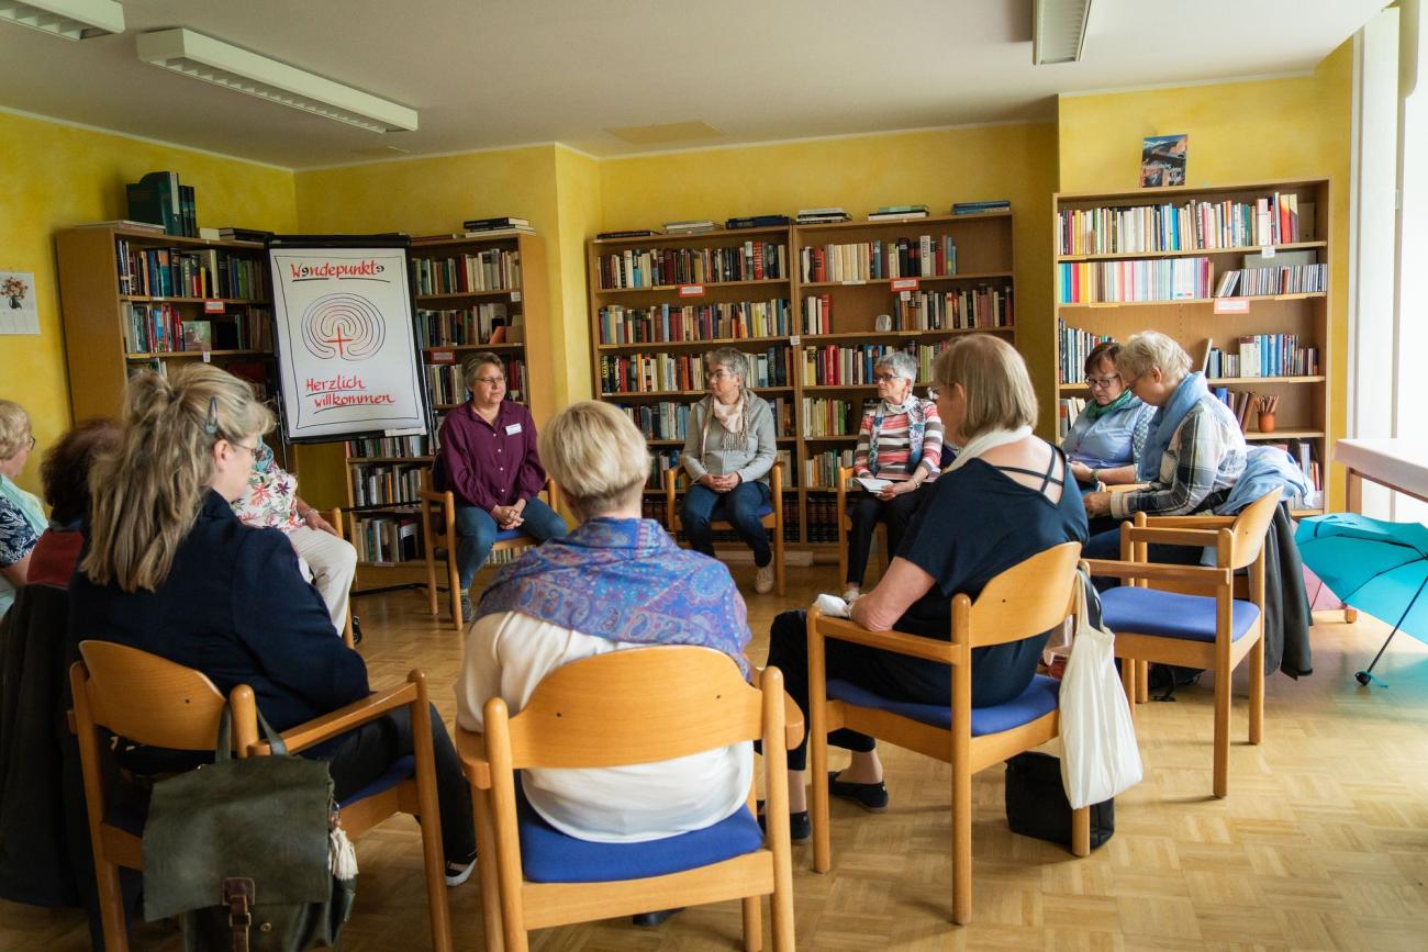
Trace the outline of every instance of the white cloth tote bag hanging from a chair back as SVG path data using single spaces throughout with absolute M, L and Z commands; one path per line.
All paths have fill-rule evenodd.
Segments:
M 1061 784 L 1072 809 L 1111 799 L 1141 781 L 1131 707 L 1115 674 L 1115 635 L 1092 624 L 1087 585 L 1082 574 L 1075 639 L 1061 678 Z

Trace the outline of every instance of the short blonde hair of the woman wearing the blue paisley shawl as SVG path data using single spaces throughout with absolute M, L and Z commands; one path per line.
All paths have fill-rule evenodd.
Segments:
M 650 475 L 640 430 L 615 407 L 593 400 L 555 414 L 540 434 L 540 457 L 581 520 L 624 504 Z

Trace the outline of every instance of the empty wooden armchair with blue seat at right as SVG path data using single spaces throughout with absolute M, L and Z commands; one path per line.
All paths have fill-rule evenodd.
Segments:
M 1092 575 L 1125 579 L 1101 595 L 1102 621 L 1115 632 L 1121 682 L 1135 711 L 1145 699 L 1147 662 L 1204 668 L 1215 675 L 1214 795 L 1230 792 L 1230 691 L 1250 657 L 1250 742 L 1264 735 L 1264 537 L 1279 504 L 1274 490 L 1238 515 L 1147 518 L 1121 524 L 1120 562 L 1091 559 Z M 1147 547 L 1202 545 L 1215 565 L 1150 562 Z M 1250 569 L 1248 599 L 1235 598 L 1235 572 Z M 1150 588 L 1154 584 L 1157 588 Z M 1198 592 L 1198 594 L 1187 594 Z

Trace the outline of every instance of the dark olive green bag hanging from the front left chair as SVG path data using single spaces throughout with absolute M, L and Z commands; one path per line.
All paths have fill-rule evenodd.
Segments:
M 186 952 L 334 945 L 357 892 L 327 764 L 231 755 L 224 709 L 214 762 L 154 784 L 144 824 L 144 918 L 178 915 Z M 344 854 L 334 875 L 334 852 Z

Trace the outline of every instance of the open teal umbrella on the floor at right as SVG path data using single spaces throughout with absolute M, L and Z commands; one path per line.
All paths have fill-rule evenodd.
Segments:
M 1399 631 L 1428 642 L 1428 527 L 1384 522 L 1354 512 L 1317 515 L 1294 535 L 1304 564 L 1347 605 L 1395 619 L 1374 661 L 1354 677 L 1374 679 L 1374 665 Z

